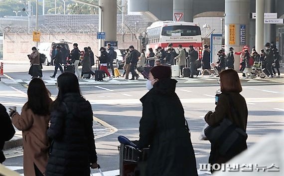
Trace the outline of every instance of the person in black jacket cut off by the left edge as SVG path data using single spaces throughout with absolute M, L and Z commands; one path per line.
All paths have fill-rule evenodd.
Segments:
M 2 152 L 4 144 L 6 141 L 9 141 L 13 138 L 15 134 L 14 127 L 12 125 L 9 114 L 6 111 L 6 108 L 0 103 L 0 164 L 2 164 L 6 158 Z

